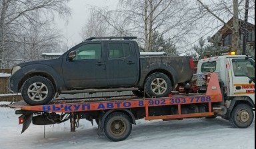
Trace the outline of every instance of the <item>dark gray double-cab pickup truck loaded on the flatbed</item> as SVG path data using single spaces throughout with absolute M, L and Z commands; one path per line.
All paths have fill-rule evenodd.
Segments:
M 163 97 L 191 79 L 191 57 L 140 57 L 135 38 L 92 37 L 59 59 L 21 63 L 13 67 L 9 88 L 39 105 L 60 93 L 133 90 Z

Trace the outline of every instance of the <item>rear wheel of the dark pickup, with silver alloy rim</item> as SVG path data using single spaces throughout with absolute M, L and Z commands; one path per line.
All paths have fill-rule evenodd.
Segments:
M 171 80 L 163 73 L 153 73 L 146 78 L 144 88 L 149 98 L 166 97 L 172 90 Z

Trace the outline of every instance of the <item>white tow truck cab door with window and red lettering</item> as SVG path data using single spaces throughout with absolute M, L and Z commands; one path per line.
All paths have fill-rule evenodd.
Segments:
M 255 62 L 245 57 L 229 58 L 229 87 L 231 96 L 249 96 L 254 101 L 255 96 Z

